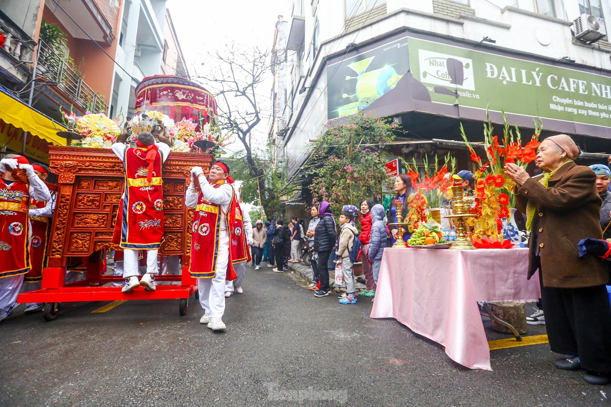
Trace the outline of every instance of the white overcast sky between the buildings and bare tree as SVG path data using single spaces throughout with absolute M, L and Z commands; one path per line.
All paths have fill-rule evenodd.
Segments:
M 270 49 L 274 41 L 274 28 L 278 15 L 290 11 L 292 0 L 168 0 L 174 28 L 191 75 L 207 74 L 208 52 L 235 43 L 245 47 L 257 45 Z M 206 84 L 202 85 L 207 87 Z M 258 89 L 260 109 L 271 109 L 269 94 L 272 85 L 268 80 Z M 238 105 L 239 106 L 239 105 Z M 252 132 L 252 144 L 265 145 L 269 130 L 267 119 L 260 121 Z M 229 146 L 230 151 L 243 149 L 240 140 Z

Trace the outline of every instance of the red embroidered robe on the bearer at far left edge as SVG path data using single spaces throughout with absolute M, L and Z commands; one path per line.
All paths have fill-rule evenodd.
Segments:
M 27 184 L 0 179 L 0 278 L 30 270 L 29 200 Z

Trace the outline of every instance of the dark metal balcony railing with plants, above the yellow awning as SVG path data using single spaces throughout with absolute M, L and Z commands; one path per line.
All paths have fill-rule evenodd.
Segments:
M 42 40 L 38 44 L 38 74 L 47 85 L 53 85 L 70 96 L 79 107 L 94 113 L 108 112 L 108 104 L 82 80 L 82 73 L 70 66 L 64 57 L 57 54 Z

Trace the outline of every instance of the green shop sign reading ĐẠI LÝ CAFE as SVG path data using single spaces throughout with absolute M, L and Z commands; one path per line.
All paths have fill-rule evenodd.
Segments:
M 411 74 L 426 87 L 433 105 L 457 106 L 458 102 L 458 109 L 503 109 L 529 120 L 541 117 L 546 129 L 611 137 L 609 73 L 411 36 L 408 49 Z M 459 116 L 481 118 L 481 111 L 475 115 L 472 109 L 467 109 L 470 115 L 461 112 Z

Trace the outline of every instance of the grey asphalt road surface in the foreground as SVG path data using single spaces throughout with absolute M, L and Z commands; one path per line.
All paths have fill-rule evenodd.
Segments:
M 20 306 L 0 323 L 0 405 L 611 405 L 611 386 L 555 369 L 547 344 L 491 351 L 494 372 L 466 369 L 395 320 L 370 319 L 371 301 L 315 298 L 269 270 L 248 266 L 225 333 L 199 324 L 194 298 L 185 317 L 177 300 L 94 314 L 106 303 L 64 303 L 53 322 Z

